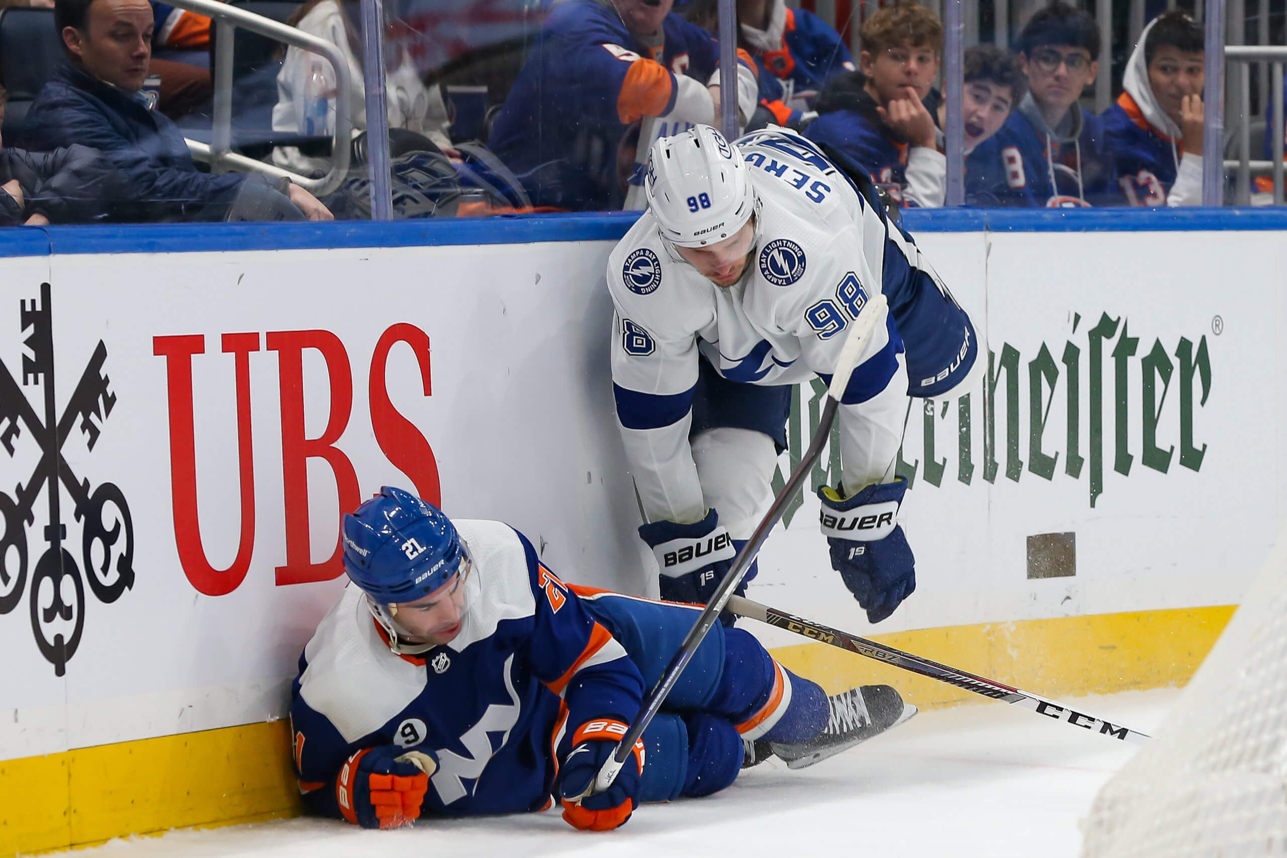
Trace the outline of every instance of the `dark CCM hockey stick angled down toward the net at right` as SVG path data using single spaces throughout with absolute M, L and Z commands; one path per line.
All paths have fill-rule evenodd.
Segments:
M 1084 729 L 1098 731 L 1100 736 L 1108 736 L 1109 738 L 1133 742 L 1135 745 L 1144 745 L 1149 738 L 1152 738 L 1147 733 L 1131 729 L 1130 727 L 1109 723 L 1103 718 L 1088 715 L 1086 713 L 1077 711 L 1071 706 L 1066 706 L 1053 700 L 1046 700 L 1045 697 L 1040 697 L 1032 692 L 1012 688 L 1010 686 L 1001 684 L 995 679 L 976 677 L 972 673 L 965 673 L 964 670 L 958 670 L 956 668 L 949 668 L 947 665 L 931 661 L 929 659 L 921 659 L 920 656 L 914 656 L 910 652 L 887 647 L 885 644 L 876 643 L 875 641 L 867 641 L 866 638 L 860 638 L 847 632 L 839 632 L 830 626 L 813 623 L 812 620 L 806 620 L 793 614 L 779 611 L 775 607 L 768 607 L 767 605 L 761 605 L 759 602 L 752 602 L 750 599 L 740 596 L 734 596 L 728 599 L 728 610 L 739 616 L 749 616 L 753 620 L 767 623 L 775 628 L 794 632 L 795 634 L 806 637 L 810 641 L 829 643 L 833 647 L 848 650 L 849 652 L 857 652 L 860 656 L 875 659 L 876 661 L 893 665 L 894 668 L 910 670 L 911 673 L 919 673 L 921 677 L 929 677 L 931 679 L 938 679 L 940 682 L 946 682 L 950 686 L 956 686 L 958 688 L 964 688 L 965 691 L 973 691 L 976 695 L 983 695 L 985 697 L 991 697 L 992 700 L 1001 700 L 1012 705 L 1022 706 L 1023 709 L 1035 711 L 1039 715 L 1045 715 L 1046 718 L 1068 722 L 1069 724 Z

